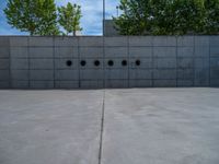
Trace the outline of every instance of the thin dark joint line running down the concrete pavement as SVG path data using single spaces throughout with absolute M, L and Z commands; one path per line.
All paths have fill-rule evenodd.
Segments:
M 101 134 L 100 134 L 100 148 L 99 148 L 99 164 L 102 163 L 102 153 L 103 153 L 104 113 L 105 113 L 105 90 L 103 91 L 103 102 L 102 102 Z

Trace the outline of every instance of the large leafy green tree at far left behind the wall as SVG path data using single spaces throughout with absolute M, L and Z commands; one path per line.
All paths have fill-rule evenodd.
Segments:
M 58 35 L 54 0 L 8 0 L 8 23 L 31 35 Z

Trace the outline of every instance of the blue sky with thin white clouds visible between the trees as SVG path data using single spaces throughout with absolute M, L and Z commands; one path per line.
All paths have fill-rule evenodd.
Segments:
M 56 4 L 66 5 L 68 2 L 78 3 L 82 8 L 83 17 L 81 26 L 83 35 L 102 35 L 102 0 L 56 0 Z M 116 16 L 116 5 L 119 0 L 106 0 L 106 19 L 112 15 Z M 7 0 L 0 0 L 0 35 L 26 35 L 20 31 L 12 28 L 8 23 L 3 13 L 7 7 Z

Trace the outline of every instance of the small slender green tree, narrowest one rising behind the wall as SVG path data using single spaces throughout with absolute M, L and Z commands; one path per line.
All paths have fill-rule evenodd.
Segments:
M 71 4 L 68 2 L 67 7 L 58 8 L 59 12 L 59 24 L 66 30 L 67 35 L 72 33 L 76 36 L 77 31 L 82 31 L 80 27 L 81 7 L 77 4 Z

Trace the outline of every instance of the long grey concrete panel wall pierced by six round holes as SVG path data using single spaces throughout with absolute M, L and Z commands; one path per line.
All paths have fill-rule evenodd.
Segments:
M 157 86 L 219 86 L 219 36 L 0 37 L 1 89 Z

